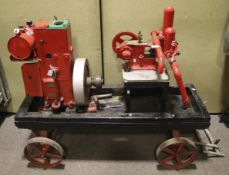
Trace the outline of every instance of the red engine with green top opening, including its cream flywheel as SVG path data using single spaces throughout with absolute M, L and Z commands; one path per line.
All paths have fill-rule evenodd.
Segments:
M 89 76 L 87 59 L 74 62 L 68 20 L 27 22 L 14 33 L 8 50 L 12 61 L 27 61 L 22 65 L 27 95 L 43 97 L 44 106 L 54 110 L 89 104 L 89 88 L 101 86 L 102 78 Z

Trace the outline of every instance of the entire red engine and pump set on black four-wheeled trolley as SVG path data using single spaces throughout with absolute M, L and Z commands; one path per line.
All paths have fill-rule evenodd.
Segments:
M 26 61 L 22 74 L 27 94 L 14 119 L 18 128 L 33 132 L 24 147 L 31 165 L 60 165 L 65 154 L 57 130 L 85 134 L 164 132 L 167 139 L 155 149 L 155 157 L 162 167 L 173 170 L 192 165 L 197 145 L 203 145 L 203 150 L 212 147 L 210 154 L 223 156 L 218 140 L 207 130 L 210 116 L 197 90 L 190 84 L 184 86 L 175 59 L 179 50 L 173 17 L 174 8 L 166 7 L 162 29 L 153 30 L 147 42 L 141 32 L 115 36 L 112 47 L 124 60 L 124 86 L 102 88 L 91 88 L 101 86 L 102 78 L 90 77 L 87 59 L 73 60 L 68 20 L 27 22 L 14 30 L 8 50 L 11 60 Z M 178 87 L 170 85 L 165 59 Z M 182 135 L 200 129 L 211 138 L 209 144 Z

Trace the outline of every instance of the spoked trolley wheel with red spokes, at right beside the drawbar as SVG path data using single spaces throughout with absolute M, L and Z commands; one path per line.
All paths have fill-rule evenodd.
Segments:
M 189 167 L 197 157 L 197 148 L 193 141 L 185 137 L 176 137 L 162 142 L 156 150 L 159 164 L 170 170 Z

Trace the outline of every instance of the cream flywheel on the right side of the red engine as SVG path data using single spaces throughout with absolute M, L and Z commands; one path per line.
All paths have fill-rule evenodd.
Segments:
M 89 103 L 90 85 L 87 84 L 89 77 L 88 61 L 86 58 L 76 58 L 73 68 L 73 94 L 78 106 L 86 106 Z

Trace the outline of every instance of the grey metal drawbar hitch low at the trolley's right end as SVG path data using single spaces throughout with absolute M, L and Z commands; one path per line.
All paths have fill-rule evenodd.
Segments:
M 203 131 L 203 132 L 201 132 Z M 204 133 L 207 142 L 203 141 Z M 198 137 L 198 142 L 195 142 L 196 145 L 201 146 L 202 151 L 208 157 L 224 157 L 225 155 L 220 151 L 220 147 L 218 146 L 220 139 L 214 139 L 212 134 L 208 129 L 204 130 L 196 130 L 196 136 Z

